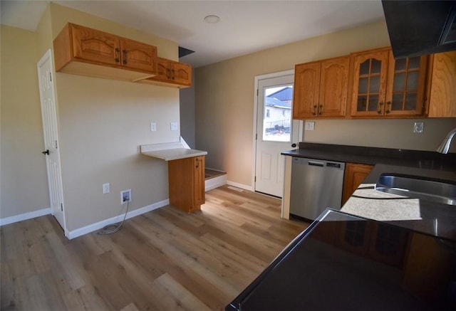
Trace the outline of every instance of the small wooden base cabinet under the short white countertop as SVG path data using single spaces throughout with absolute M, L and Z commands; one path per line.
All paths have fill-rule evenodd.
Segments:
M 204 204 L 204 156 L 168 162 L 170 204 L 191 213 Z

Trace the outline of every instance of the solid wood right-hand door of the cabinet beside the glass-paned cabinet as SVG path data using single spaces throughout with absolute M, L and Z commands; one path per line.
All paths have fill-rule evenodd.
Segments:
M 319 117 L 345 117 L 350 58 L 331 58 L 321 63 Z

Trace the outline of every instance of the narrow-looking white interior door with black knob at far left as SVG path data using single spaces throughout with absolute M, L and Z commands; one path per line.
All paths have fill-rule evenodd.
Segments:
M 51 50 L 48 50 L 41 60 L 38 61 L 37 67 L 44 133 L 43 154 L 46 156 L 51 210 L 53 216 L 56 217 L 63 231 L 65 231 L 65 235 L 68 236 L 63 205 L 60 152 L 58 151 L 56 93 L 54 92 Z

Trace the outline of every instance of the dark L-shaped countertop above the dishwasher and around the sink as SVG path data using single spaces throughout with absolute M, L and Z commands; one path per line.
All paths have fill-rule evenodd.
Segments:
M 456 206 L 374 189 L 384 173 L 456 182 L 456 154 L 312 143 L 300 143 L 299 147 L 282 154 L 374 165 L 341 211 L 456 241 Z

